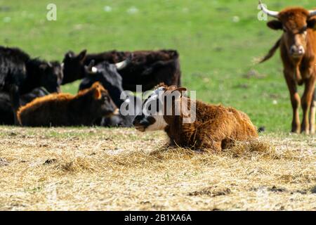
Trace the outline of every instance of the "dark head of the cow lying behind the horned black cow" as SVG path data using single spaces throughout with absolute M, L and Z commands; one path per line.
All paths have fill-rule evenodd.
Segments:
M 86 50 L 81 51 L 78 55 L 68 51 L 65 58 L 62 60 L 62 70 L 64 79 L 62 84 L 74 82 L 77 79 L 84 77 L 84 60 L 86 59 Z

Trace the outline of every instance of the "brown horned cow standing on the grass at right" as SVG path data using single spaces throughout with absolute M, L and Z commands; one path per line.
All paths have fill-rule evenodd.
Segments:
M 279 47 L 284 66 L 284 77 L 289 87 L 293 108 L 292 132 L 315 134 L 315 79 L 316 79 L 316 10 L 304 8 L 286 8 L 283 11 L 270 11 L 259 1 L 261 10 L 277 18 L 268 22 L 272 30 L 283 30 L 282 37 L 270 50 L 263 61 L 270 58 Z M 300 99 L 297 85 L 305 84 Z M 299 107 L 303 108 L 303 120 L 300 123 Z M 308 115 L 309 113 L 309 115 Z

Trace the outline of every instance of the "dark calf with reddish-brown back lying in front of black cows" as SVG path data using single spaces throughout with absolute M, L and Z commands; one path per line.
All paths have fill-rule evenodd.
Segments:
M 77 96 L 51 94 L 36 98 L 18 110 L 18 121 L 28 127 L 91 126 L 98 118 L 117 111 L 107 90 L 96 82 Z

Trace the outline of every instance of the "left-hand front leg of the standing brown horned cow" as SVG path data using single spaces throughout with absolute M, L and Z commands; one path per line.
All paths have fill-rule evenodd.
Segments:
M 284 77 L 285 77 L 285 80 L 287 81 L 287 86 L 289 88 L 291 104 L 292 104 L 292 109 L 293 109 L 291 132 L 299 134 L 301 131 L 301 123 L 300 123 L 300 115 L 299 115 L 301 99 L 296 89 L 296 82 L 292 78 L 293 77 L 292 73 L 284 71 Z

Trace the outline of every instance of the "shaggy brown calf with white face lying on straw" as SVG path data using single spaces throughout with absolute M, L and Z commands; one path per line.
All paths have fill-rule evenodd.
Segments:
M 171 139 L 171 145 L 196 150 L 206 148 L 220 151 L 235 141 L 258 137 L 256 127 L 245 113 L 235 108 L 193 101 L 182 96 L 185 90 L 164 85 L 155 89 L 144 101 L 142 115 L 133 121 L 136 129 L 163 129 Z M 171 103 L 168 103 L 168 99 L 171 99 Z

